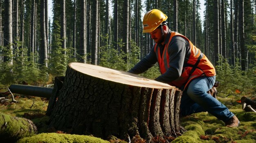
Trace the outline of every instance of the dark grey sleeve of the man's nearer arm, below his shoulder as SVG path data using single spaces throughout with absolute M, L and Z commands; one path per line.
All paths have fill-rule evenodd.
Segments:
M 168 54 L 169 54 L 169 68 L 166 72 L 155 80 L 170 83 L 175 79 L 179 78 L 182 74 L 182 67 L 184 64 L 184 59 L 186 55 L 187 44 L 184 38 L 175 36 L 171 40 L 171 43 L 168 46 Z

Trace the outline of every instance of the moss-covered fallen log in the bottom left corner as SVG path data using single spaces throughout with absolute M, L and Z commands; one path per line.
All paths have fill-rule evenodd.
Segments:
M 34 134 L 37 134 L 37 128 L 29 119 L 13 117 L 0 112 L 1 143 L 13 143 Z

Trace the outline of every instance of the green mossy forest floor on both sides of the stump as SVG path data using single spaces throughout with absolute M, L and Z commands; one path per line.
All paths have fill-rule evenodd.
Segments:
M 241 97 L 241 95 L 240 97 L 233 95 L 228 98 L 217 97 L 238 117 L 240 120 L 238 128 L 225 127 L 223 121 L 207 112 L 191 114 L 181 118 L 181 125 L 188 131 L 172 143 L 256 143 L 256 112 L 245 112 L 242 104 L 236 102 Z M 38 134 L 49 132 L 47 130 L 49 117 L 45 115 L 48 103 L 44 98 L 19 95 L 15 99 L 18 103 L 11 103 L 11 99 L 6 103 L 0 103 L 0 112 L 30 119 L 38 128 Z

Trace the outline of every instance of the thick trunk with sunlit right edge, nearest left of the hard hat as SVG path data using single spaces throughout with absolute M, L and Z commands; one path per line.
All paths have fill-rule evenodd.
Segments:
M 129 0 L 124 0 L 124 23 L 123 23 L 123 42 L 124 42 L 124 46 L 123 46 L 123 51 L 125 54 L 127 54 L 129 52 Z M 124 57 L 124 60 L 127 62 L 127 57 Z

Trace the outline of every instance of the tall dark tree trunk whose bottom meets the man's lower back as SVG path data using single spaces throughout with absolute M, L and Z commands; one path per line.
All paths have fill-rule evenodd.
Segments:
M 213 9 L 214 9 L 214 15 L 213 15 L 213 19 L 214 19 L 214 66 L 218 65 L 218 61 L 219 59 L 219 55 L 220 54 L 220 40 L 219 40 L 219 4 L 218 4 L 218 0 L 215 0 L 213 2 Z

